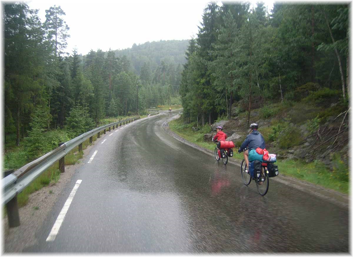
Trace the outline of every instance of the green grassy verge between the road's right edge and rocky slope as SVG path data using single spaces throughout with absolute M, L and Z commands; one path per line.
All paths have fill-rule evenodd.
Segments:
M 178 134 L 180 137 L 185 138 L 189 142 L 197 144 L 211 151 L 215 149 L 214 143 L 204 142 L 203 140 L 203 135 L 211 131 L 209 125 L 206 125 L 201 130 L 194 132 L 191 129 L 191 124 L 184 124 L 181 119 L 177 119 L 170 121 L 169 127 L 170 130 Z M 238 153 L 237 147 L 239 148 L 239 145 L 237 145 L 236 149 L 234 149 L 233 157 L 229 158 L 241 161 L 243 159 L 243 155 Z M 341 167 L 339 159 L 333 160 L 333 162 L 336 162 L 334 165 L 336 170 L 334 169 L 331 171 L 327 169 L 322 162 L 319 161 L 303 163 L 293 159 L 277 159 L 277 165 L 279 167 L 280 174 L 292 176 L 303 181 L 348 194 L 349 182 L 340 180 L 339 174 L 341 172 L 337 172 L 339 169 L 344 169 L 344 167 Z

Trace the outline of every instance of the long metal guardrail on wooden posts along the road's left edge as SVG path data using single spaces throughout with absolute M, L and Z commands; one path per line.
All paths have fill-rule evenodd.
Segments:
M 55 162 L 59 161 L 59 169 L 61 172 L 65 171 L 64 157 L 76 146 L 79 146 L 79 151 L 82 151 L 82 144 L 85 140 L 90 139 L 92 143 L 92 138 L 95 134 L 100 137 L 100 132 L 113 127 L 118 127 L 120 124 L 130 123 L 131 121 L 140 119 L 140 117 L 135 117 L 131 119 L 116 121 L 108 125 L 97 127 L 94 130 L 88 131 L 80 136 L 62 143 L 58 148 L 46 153 L 45 155 L 39 157 L 38 159 L 24 165 L 18 170 L 14 171 L 12 174 L 1 179 L 1 189 L 2 195 L 2 205 L 6 205 L 7 215 L 10 227 L 19 226 L 19 214 L 17 205 L 17 195 L 21 193 L 32 181 L 34 181 L 39 175 L 48 169 Z

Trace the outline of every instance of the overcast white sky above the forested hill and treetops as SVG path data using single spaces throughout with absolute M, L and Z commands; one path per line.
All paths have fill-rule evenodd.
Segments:
M 70 27 L 66 51 L 86 55 L 92 49 L 108 51 L 131 48 L 145 42 L 196 37 L 206 0 L 32 0 L 42 23 L 45 10 L 56 5 L 65 12 Z M 266 2 L 266 1 L 264 1 Z M 270 1 L 272 2 L 272 1 Z M 272 8 L 272 6 L 271 6 Z

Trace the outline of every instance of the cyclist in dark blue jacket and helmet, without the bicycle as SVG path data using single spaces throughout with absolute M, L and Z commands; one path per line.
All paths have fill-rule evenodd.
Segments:
M 252 123 L 250 125 L 251 131 L 249 133 L 249 135 L 246 136 L 243 144 L 241 144 L 238 152 L 240 153 L 241 151 L 244 151 L 244 149 L 248 146 L 249 149 L 244 151 L 244 159 L 246 162 L 246 169 L 248 169 L 249 167 L 249 152 L 252 149 L 256 149 L 256 148 L 261 148 L 261 149 L 265 149 L 265 140 L 262 136 L 262 134 L 260 132 L 257 131 L 257 129 L 259 128 L 259 125 L 257 125 L 256 123 Z

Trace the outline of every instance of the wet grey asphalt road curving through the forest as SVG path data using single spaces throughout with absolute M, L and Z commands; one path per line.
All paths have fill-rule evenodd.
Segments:
M 348 208 L 274 180 L 260 196 L 239 166 L 169 136 L 162 124 L 171 115 L 99 139 L 24 252 L 348 252 Z M 46 242 L 77 180 L 58 235 Z

